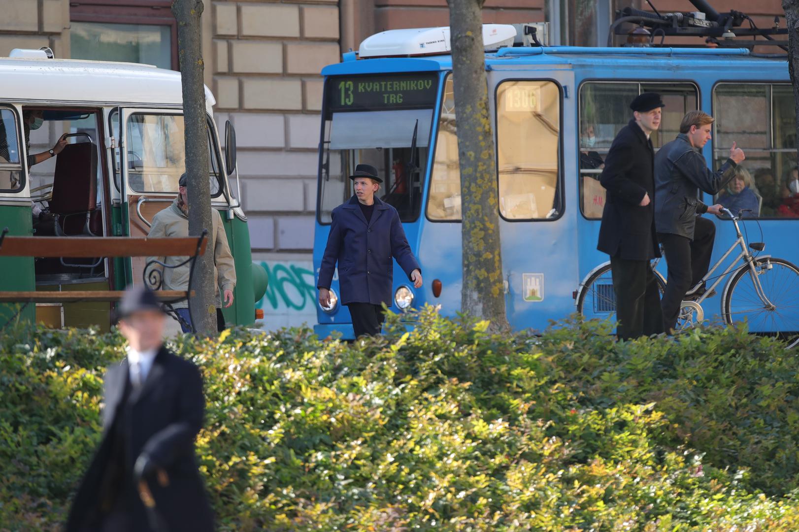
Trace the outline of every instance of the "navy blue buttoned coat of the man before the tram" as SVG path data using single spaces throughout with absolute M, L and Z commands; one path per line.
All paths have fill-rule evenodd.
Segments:
M 419 268 L 396 208 L 375 198 L 372 221 L 367 224 L 358 198 L 353 196 L 333 209 L 328 245 L 324 248 L 316 286 L 330 288 L 338 262 L 341 304 L 385 303 L 391 307 L 393 259 L 408 279 Z

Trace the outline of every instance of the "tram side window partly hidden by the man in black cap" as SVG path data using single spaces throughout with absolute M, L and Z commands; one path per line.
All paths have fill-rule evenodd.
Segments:
M 698 89 L 693 83 L 639 83 L 638 81 L 587 81 L 580 87 L 580 208 L 590 220 L 602 218 L 605 189 L 599 175 L 613 139 L 632 119 L 630 101 L 640 93 L 659 93 L 663 103 L 660 128 L 652 134 L 657 151 L 680 133 L 688 111 L 698 109 Z

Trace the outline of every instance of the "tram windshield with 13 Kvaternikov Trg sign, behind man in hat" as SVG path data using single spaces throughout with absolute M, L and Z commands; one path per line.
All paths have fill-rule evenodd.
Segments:
M 419 217 L 437 73 L 330 77 L 325 85 L 319 220 L 352 196 L 356 165 L 377 169 L 377 196 L 400 220 Z

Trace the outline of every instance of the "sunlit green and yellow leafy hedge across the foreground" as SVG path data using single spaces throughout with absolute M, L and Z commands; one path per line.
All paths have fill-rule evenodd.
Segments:
M 221 530 L 799 530 L 799 360 L 779 343 L 491 335 L 431 309 L 388 329 L 173 346 L 205 375 Z M 0 349 L 0 530 L 53 530 L 121 339 L 20 328 Z

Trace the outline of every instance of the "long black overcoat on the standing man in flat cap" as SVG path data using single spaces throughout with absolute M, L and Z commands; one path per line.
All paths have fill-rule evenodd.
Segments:
M 660 256 L 654 227 L 654 150 L 634 120 L 618 132 L 599 178 L 607 190 L 597 249 L 626 260 Z M 650 204 L 638 204 L 649 194 Z

